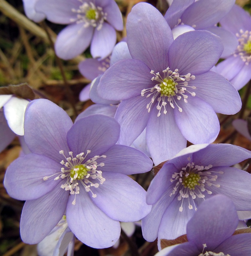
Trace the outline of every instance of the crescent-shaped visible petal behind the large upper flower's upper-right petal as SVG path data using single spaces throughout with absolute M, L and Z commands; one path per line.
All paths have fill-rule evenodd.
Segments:
M 221 58 L 226 58 L 229 55 L 231 55 L 239 44 L 236 36 L 222 27 L 213 26 L 213 27 L 207 28 L 206 30 L 210 31 L 211 33 L 221 38 L 224 46 L 224 50 L 221 55 Z

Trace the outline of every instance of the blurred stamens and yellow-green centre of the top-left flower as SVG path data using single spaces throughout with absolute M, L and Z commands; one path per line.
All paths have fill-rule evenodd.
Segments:
M 79 0 L 82 2 L 82 0 Z M 82 2 L 83 3 L 83 2 Z M 107 19 L 107 13 L 103 12 L 103 8 L 95 6 L 92 2 L 84 2 L 79 6 L 79 9 L 72 9 L 72 12 L 77 14 L 76 19 L 71 19 L 71 22 L 83 23 L 84 27 L 96 27 L 100 30 L 104 21 Z

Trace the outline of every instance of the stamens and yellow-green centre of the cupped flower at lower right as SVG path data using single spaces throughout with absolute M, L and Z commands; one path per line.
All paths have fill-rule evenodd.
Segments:
M 179 196 L 177 197 L 178 201 L 182 199 L 181 206 L 179 211 L 183 210 L 183 201 L 184 198 L 188 199 L 188 208 L 193 209 L 192 204 L 190 203 L 190 199 L 192 198 L 192 203 L 195 206 L 194 199 L 204 198 L 205 195 L 203 192 L 207 192 L 208 194 L 212 194 L 209 190 L 209 187 L 215 186 L 217 188 L 220 187 L 219 184 L 213 184 L 214 181 L 217 179 L 217 175 L 213 175 L 212 173 L 223 174 L 222 171 L 214 172 L 208 171 L 213 166 L 209 164 L 208 166 L 200 166 L 194 165 L 191 163 L 191 158 L 188 157 L 189 163 L 186 167 L 183 167 L 179 173 L 174 173 L 172 178 L 170 179 L 171 182 L 176 182 L 173 192 L 170 196 L 174 195 L 177 190 L 179 190 Z

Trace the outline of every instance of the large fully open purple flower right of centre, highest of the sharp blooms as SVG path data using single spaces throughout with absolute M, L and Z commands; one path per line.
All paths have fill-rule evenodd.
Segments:
M 220 129 L 215 112 L 241 108 L 233 85 L 209 71 L 221 56 L 220 38 L 197 30 L 174 40 L 164 17 L 147 3 L 133 7 L 126 28 L 132 59 L 113 64 L 97 88 L 100 97 L 122 100 L 115 115 L 118 142 L 131 145 L 146 127 L 155 164 L 173 157 L 187 140 L 213 142 Z

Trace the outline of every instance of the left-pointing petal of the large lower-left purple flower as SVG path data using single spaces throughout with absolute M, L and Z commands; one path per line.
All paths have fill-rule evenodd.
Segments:
M 54 189 L 57 175 L 43 180 L 45 176 L 60 174 L 61 165 L 37 154 L 28 154 L 13 161 L 5 174 L 4 186 L 8 194 L 19 200 L 37 199 Z

